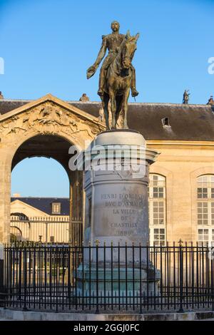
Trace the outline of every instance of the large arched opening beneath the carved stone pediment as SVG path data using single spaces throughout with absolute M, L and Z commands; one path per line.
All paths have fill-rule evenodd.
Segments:
M 68 168 L 68 162 L 72 157 L 68 154 L 70 147 L 71 143 L 68 140 L 57 135 L 36 135 L 26 140 L 16 150 L 11 163 L 13 174 L 19 163 L 24 165 L 26 158 L 31 158 L 31 160 L 37 160 L 36 166 L 38 170 L 36 171 L 37 173 L 35 169 L 26 173 L 30 174 L 32 178 L 39 177 L 45 171 L 42 169 L 43 164 L 38 164 L 38 160 L 51 158 L 50 163 L 55 160 L 65 170 L 68 177 L 68 191 L 61 193 L 61 196 L 57 197 L 54 193 L 52 195 L 48 193 L 48 196 L 46 196 L 46 190 L 43 189 L 35 197 L 35 193 L 30 192 L 30 185 L 28 185 L 26 187 L 26 190 L 29 190 L 27 197 L 20 197 L 19 194 L 11 197 L 11 240 L 65 243 L 72 242 L 75 237 L 78 242 L 82 241 L 82 173 L 71 171 Z M 49 174 L 49 171 L 46 171 L 46 173 Z M 56 184 L 56 188 L 57 185 L 61 185 L 62 171 L 57 173 L 55 177 L 52 176 L 52 179 L 54 184 Z M 13 182 L 11 186 L 13 189 Z M 17 215 L 17 213 L 22 215 Z

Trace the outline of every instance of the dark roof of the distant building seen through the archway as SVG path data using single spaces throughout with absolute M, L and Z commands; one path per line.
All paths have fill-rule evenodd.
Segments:
M 48 215 L 52 215 L 52 202 L 61 203 L 61 214 L 58 215 L 69 215 L 69 199 L 66 197 L 11 197 L 11 202 L 20 200 L 26 204 L 45 212 Z M 54 214 L 56 216 L 56 214 Z

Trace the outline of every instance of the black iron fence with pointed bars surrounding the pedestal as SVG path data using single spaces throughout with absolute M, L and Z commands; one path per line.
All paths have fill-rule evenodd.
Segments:
M 14 244 L 4 249 L 1 306 L 91 312 L 214 308 L 208 246 Z M 1 282 L 1 279 L 0 279 Z

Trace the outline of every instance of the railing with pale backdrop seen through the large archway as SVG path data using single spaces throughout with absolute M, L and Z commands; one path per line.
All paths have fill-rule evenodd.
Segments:
M 81 244 L 82 235 L 83 222 L 80 218 L 11 216 L 12 242 Z

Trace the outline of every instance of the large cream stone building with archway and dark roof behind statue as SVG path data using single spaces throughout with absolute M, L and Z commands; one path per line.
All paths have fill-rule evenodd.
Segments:
M 21 160 L 58 160 L 70 181 L 70 215 L 84 222 L 82 172 L 68 168 L 71 155 L 105 130 L 101 103 L 68 101 L 51 94 L 38 100 L 0 100 L 0 241 L 9 241 L 11 170 Z M 129 128 L 161 154 L 151 165 L 151 242 L 214 240 L 214 106 L 131 103 Z

